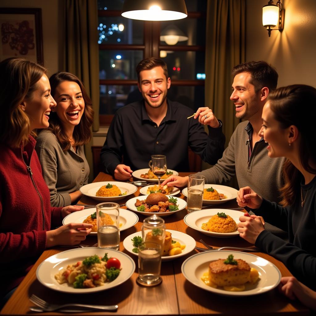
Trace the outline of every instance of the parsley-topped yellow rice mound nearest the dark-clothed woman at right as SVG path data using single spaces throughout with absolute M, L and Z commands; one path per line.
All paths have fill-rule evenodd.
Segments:
M 202 224 L 202 229 L 216 233 L 232 233 L 237 229 L 237 224 L 229 215 L 217 213 L 207 223 Z

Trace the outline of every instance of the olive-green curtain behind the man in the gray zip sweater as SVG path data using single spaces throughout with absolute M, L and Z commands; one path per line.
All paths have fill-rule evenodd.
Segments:
M 205 46 L 205 105 L 223 122 L 226 145 L 240 122 L 229 100 L 232 68 L 245 62 L 246 0 L 208 0 Z

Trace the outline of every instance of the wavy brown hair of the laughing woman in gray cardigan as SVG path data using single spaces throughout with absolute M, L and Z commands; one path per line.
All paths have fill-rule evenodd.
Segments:
M 91 139 L 90 127 L 93 123 L 94 114 L 92 102 L 81 80 L 69 72 L 56 72 L 49 78 L 49 83 L 51 84 L 52 89 L 51 94 L 53 98 L 55 98 L 56 88 L 64 81 L 76 82 L 81 89 L 84 100 L 84 111 L 80 123 L 75 126 L 73 133 L 74 146 L 80 146 L 88 143 Z M 64 151 L 70 149 L 71 143 L 63 130 L 63 126 L 56 112 L 51 112 L 48 129 L 56 135 L 57 140 Z

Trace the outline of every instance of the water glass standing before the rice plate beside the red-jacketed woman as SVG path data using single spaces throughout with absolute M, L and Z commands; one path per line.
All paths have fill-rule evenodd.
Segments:
M 98 247 L 119 250 L 119 204 L 100 203 L 96 209 Z

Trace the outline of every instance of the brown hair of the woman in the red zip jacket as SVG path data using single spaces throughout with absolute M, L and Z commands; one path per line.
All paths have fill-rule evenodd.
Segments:
M 17 148 L 28 142 L 30 118 L 21 108 L 23 100 L 32 100 L 37 82 L 46 69 L 22 58 L 8 58 L 0 63 L 0 138 Z

